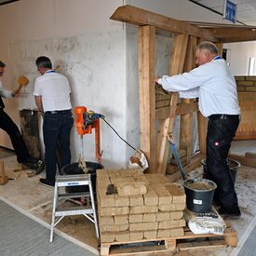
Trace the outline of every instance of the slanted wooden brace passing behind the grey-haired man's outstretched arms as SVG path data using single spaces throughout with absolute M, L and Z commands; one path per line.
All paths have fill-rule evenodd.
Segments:
M 183 71 L 183 65 L 185 60 L 185 53 L 187 48 L 188 35 L 177 34 L 174 36 L 172 52 L 169 63 L 169 74 L 179 74 Z M 175 119 L 176 105 L 178 101 L 178 94 L 173 93 L 170 101 L 170 113 L 168 118 L 163 124 L 163 132 L 159 134 L 158 140 L 160 140 L 159 155 L 157 155 L 157 173 L 166 173 L 168 163 L 168 132 L 172 130 Z

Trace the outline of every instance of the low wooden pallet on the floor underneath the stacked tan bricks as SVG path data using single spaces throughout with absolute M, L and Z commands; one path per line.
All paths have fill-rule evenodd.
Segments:
M 101 243 L 101 255 L 137 255 L 190 249 L 220 249 L 226 246 L 236 247 L 237 241 L 236 231 L 231 227 L 228 227 L 223 235 L 195 235 L 187 229 L 184 231 L 184 236 L 178 237 Z

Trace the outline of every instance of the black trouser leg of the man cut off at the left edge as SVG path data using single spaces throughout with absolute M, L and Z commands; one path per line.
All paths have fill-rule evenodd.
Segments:
M 7 115 L 4 109 L 0 109 L 0 128 L 7 132 L 17 155 L 17 161 L 19 163 L 25 161 L 27 157 L 30 156 L 28 148 L 22 138 L 19 128 Z

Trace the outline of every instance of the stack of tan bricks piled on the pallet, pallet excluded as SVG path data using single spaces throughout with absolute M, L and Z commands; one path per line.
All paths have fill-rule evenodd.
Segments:
M 117 188 L 115 194 L 106 194 L 109 184 Z M 101 242 L 183 236 L 185 201 L 182 188 L 168 182 L 164 175 L 143 174 L 138 169 L 99 169 Z

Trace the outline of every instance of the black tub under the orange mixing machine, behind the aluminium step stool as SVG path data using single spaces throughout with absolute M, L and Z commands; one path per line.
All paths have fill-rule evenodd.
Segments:
M 94 162 L 86 162 L 88 173 L 90 174 L 92 189 L 94 194 L 96 193 L 96 170 L 104 168 L 101 164 Z M 61 175 L 74 175 L 74 174 L 85 174 L 83 169 L 78 166 L 78 163 L 66 165 L 61 168 Z M 67 193 L 75 192 L 88 192 L 88 186 L 68 186 L 66 187 Z

